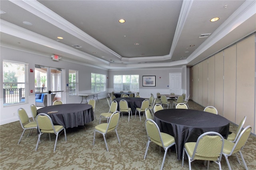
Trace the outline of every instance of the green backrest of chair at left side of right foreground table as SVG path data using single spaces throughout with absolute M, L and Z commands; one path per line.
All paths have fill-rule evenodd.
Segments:
M 150 138 L 152 142 L 163 147 L 164 144 L 158 125 L 152 119 L 146 119 L 145 126 L 148 138 Z

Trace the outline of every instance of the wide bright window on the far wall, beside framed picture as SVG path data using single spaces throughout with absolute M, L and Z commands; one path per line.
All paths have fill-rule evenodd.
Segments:
M 139 91 L 139 75 L 114 75 L 114 91 Z

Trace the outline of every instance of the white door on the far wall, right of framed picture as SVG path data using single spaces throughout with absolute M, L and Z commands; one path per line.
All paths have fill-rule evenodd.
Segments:
M 181 95 L 181 73 L 170 73 L 170 93 Z

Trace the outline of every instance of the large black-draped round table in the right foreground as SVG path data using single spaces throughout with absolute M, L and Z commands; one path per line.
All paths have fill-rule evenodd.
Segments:
M 154 114 L 154 121 L 161 132 L 175 138 L 178 160 L 182 159 L 186 142 L 196 142 L 204 132 L 214 131 L 227 138 L 229 132 L 228 119 L 204 111 L 192 109 L 164 109 Z

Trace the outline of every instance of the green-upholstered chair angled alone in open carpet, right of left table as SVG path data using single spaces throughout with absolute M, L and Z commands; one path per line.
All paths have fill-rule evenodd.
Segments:
M 103 138 L 104 138 L 104 141 L 105 141 L 105 144 L 106 144 L 106 149 L 108 151 L 108 145 L 107 145 L 107 142 L 106 142 L 106 134 L 107 134 L 107 132 L 110 132 L 112 130 L 116 131 L 116 136 L 118 138 L 118 142 L 120 143 L 119 136 L 118 136 L 118 133 L 117 133 L 119 117 L 120 117 L 119 111 L 115 111 L 114 113 L 112 113 L 108 123 L 102 123 L 102 124 L 97 125 L 95 127 L 94 136 L 93 136 L 93 144 L 92 144 L 93 146 L 94 146 L 94 141 L 95 141 L 95 133 L 99 132 L 103 135 Z

